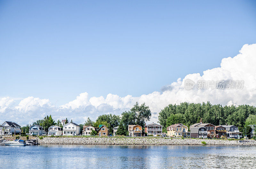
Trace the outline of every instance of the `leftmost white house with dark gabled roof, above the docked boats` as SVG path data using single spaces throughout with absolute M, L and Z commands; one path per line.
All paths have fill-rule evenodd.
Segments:
M 0 135 L 16 135 L 21 133 L 21 127 L 15 122 L 4 121 L 0 126 Z

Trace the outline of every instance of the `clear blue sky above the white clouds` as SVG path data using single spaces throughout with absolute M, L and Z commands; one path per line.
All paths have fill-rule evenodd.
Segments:
M 255 1 L 0 1 L 0 98 L 138 97 L 256 40 Z

